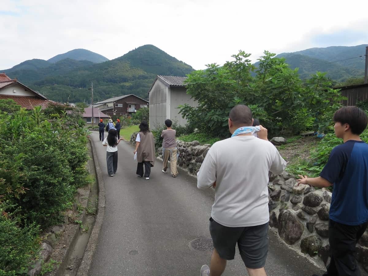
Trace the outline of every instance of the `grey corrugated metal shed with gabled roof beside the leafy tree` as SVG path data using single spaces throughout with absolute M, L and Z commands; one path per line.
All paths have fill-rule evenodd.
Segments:
M 178 106 L 187 103 L 197 107 L 198 103 L 187 94 L 183 84 L 186 77 L 158 75 L 149 90 L 149 127 L 164 125 L 166 119 L 185 126 L 187 119 L 179 114 Z

